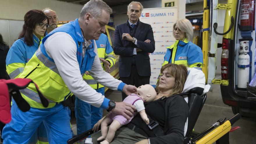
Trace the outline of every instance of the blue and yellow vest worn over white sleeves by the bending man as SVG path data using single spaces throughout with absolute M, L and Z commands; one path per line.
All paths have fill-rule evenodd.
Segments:
M 74 22 L 63 25 L 58 29 L 54 29 L 51 33 L 46 35 L 45 38 L 43 38 L 40 47 L 26 64 L 24 71 L 19 75 L 19 78 L 32 79 L 38 85 L 41 93 L 49 101 L 49 106 L 47 108 L 54 107 L 57 103 L 64 101 L 71 95 L 70 90 L 67 88 L 58 72 L 54 60 L 48 56 L 44 47 L 45 40 L 55 32 L 65 32 L 73 38 L 74 42 L 76 42 L 77 61 L 81 75 L 91 69 L 96 56 L 93 51 L 94 49 L 86 50 L 84 57 L 82 56 L 81 43 L 84 39 L 81 36 L 82 32 L 78 19 Z M 20 90 L 20 92 L 22 97 L 31 107 L 45 109 L 33 84 L 30 84 L 27 88 Z

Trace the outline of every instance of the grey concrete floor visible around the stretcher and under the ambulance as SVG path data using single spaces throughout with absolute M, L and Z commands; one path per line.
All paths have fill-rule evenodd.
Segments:
M 106 97 L 116 102 L 121 101 L 121 92 L 108 90 Z M 104 110 L 103 115 L 106 115 Z M 202 132 L 207 128 L 211 127 L 217 120 L 221 118 L 231 118 L 234 114 L 232 113 L 231 107 L 223 104 L 221 98 L 221 90 L 219 85 L 214 85 L 213 91 L 207 93 L 207 99 L 203 109 L 199 115 L 199 118 L 195 125 L 195 131 Z M 75 118 L 72 118 L 72 130 L 76 134 L 76 122 Z M 238 120 L 234 126 L 241 128 L 230 133 L 230 144 L 252 144 L 256 143 L 255 129 L 256 119 L 242 117 Z

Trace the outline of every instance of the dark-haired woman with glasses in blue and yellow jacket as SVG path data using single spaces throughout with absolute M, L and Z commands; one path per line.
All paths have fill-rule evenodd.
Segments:
M 38 49 L 41 39 L 45 36 L 46 28 L 49 26 L 49 20 L 41 10 L 29 10 L 25 14 L 23 29 L 6 57 L 6 71 L 11 79 L 17 78 L 23 72 L 25 65 Z M 44 128 L 43 123 L 40 124 L 40 127 Z M 28 143 L 36 143 L 37 140 L 40 140 L 38 134 L 43 131 L 45 130 L 39 129 L 38 132 L 35 132 Z

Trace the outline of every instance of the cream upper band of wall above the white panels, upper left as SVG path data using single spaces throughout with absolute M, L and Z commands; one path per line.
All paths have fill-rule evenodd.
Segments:
M 79 17 L 82 5 L 56 0 L 0 0 L 0 19 L 24 20 L 26 12 L 50 7 L 60 21 Z

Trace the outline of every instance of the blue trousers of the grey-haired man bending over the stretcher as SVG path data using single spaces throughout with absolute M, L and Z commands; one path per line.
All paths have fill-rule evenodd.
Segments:
M 22 112 L 15 101 L 11 108 L 12 120 L 3 128 L 3 144 L 27 144 L 40 123 L 43 122 L 51 144 L 67 143 L 72 138 L 70 109 L 62 104 L 52 108 L 31 108 Z

